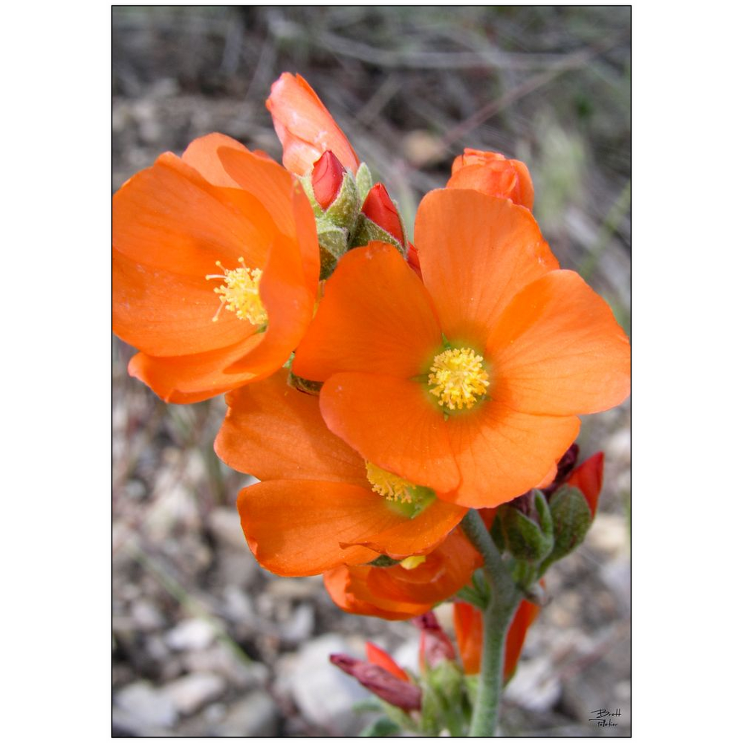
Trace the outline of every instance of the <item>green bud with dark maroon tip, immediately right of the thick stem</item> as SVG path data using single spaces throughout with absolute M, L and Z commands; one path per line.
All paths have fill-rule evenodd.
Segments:
M 542 562 L 551 553 L 552 532 L 550 508 L 540 490 L 530 490 L 499 507 L 491 528 L 499 549 L 527 562 Z

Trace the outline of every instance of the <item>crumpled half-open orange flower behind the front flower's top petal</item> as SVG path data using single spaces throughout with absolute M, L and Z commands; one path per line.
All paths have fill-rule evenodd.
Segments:
M 531 211 L 534 186 L 531 175 L 520 160 L 507 160 L 500 152 L 466 148 L 452 163 L 447 188 L 467 188 L 499 198 L 510 198 Z

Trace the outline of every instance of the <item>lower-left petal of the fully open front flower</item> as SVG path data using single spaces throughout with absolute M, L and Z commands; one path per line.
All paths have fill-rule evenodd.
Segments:
M 406 379 L 334 374 L 322 386 L 320 410 L 328 428 L 367 461 L 443 493 L 458 486 L 459 470 L 444 416 L 426 394 Z

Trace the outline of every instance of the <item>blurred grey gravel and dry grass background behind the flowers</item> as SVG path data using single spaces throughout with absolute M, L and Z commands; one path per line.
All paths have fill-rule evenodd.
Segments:
M 265 99 L 302 74 L 410 228 L 464 147 L 527 163 L 534 213 L 629 334 L 629 7 L 114 7 L 114 191 L 166 150 L 230 134 L 280 161 Z M 248 478 L 212 443 L 221 398 L 166 406 L 113 342 L 115 736 L 343 736 L 366 692 L 331 666 L 364 640 L 417 667 L 408 623 L 343 614 L 319 577 L 256 564 Z M 502 710 L 509 736 L 627 736 L 629 403 L 584 421 L 606 452 L 588 538 L 548 573 Z M 437 609 L 451 629 L 450 607 Z M 594 710 L 621 710 L 599 728 Z

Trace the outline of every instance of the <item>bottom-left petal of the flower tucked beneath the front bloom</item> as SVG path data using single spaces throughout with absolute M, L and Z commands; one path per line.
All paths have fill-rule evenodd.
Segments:
M 388 510 L 371 490 L 314 480 L 259 482 L 240 491 L 237 507 L 258 562 L 284 576 L 317 575 L 373 560 L 376 552 L 340 543 L 357 541 Z

